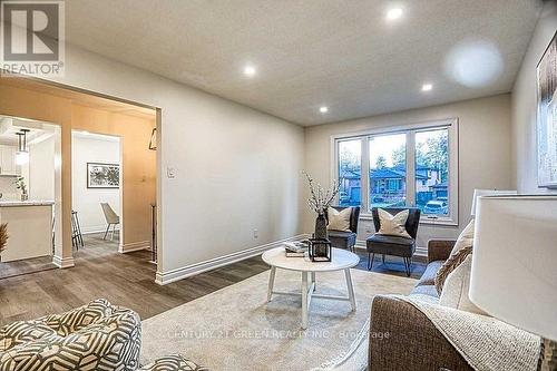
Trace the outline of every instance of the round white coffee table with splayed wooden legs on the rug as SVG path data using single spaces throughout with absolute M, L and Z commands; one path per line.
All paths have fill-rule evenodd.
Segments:
M 312 299 L 328 299 L 350 302 L 352 311 L 355 311 L 354 287 L 352 285 L 352 276 L 350 269 L 358 265 L 360 257 L 346 250 L 333 248 L 331 252 L 331 262 L 312 262 L 305 257 L 286 257 L 284 247 L 275 247 L 263 253 L 262 257 L 265 263 L 271 265 L 271 274 L 268 276 L 267 302 L 275 295 L 302 295 L 302 329 L 307 329 L 307 313 Z M 274 291 L 276 269 L 302 272 L 302 290 L 301 293 L 290 293 Z M 333 296 L 315 294 L 315 273 L 344 271 L 346 279 L 348 296 Z M 311 274 L 311 284 L 307 282 L 307 273 Z

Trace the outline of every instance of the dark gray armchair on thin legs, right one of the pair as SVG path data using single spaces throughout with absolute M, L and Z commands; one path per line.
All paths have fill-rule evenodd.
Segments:
M 410 266 L 412 263 L 412 255 L 416 252 L 416 236 L 418 234 L 418 225 L 420 224 L 420 209 L 417 207 L 392 207 L 392 208 L 383 208 L 389 212 L 391 215 L 395 215 L 404 209 L 409 211 L 407 224 L 404 225 L 408 234 L 411 238 L 399 237 L 399 236 L 389 236 L 382 234 L 373 234 L 365 241 L 365 247 L 368 250 L 368 270 L 373 267 L 373 258 L 375 254 L 384 255 L 393 255 L 400 256 L 404 260 L 404 271 L 408 276 L 410 276 Z M 371 209 L 373 215 L 373 224 L 375 225 L 375 231 L 381 228 L 381 222 L 379 219 L 378 208 L 373 207 Z

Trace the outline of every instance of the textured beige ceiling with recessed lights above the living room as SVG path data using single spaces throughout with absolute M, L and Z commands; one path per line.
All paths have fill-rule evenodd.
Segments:
M 510 91 L 539 0 L 72 0 L 70 43 L 301 125 Z M 388 21 L 392 7 L 403 10 Z M 256 74 L 246 77 L 245 66 Z M 430 91 L 421 91 L 423 84 Z M 320 113 L 328 106 L 326 114 Z

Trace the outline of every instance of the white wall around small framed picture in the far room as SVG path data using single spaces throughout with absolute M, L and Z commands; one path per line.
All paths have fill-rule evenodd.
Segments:
M 87 163 L 120 163 L 117 137 L 81 134 L 71 136 L 71 202 L 82 233 L 104 232 L 106 219 L 100 203 L 108 203 L 120 215 L 119 188 L 87 188 Z

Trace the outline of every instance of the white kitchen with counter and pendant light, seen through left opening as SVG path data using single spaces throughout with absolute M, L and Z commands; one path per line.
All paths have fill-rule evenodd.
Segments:
M 0 116 L 2 263 L 53 255 L 57 138 L 55 125 Z

